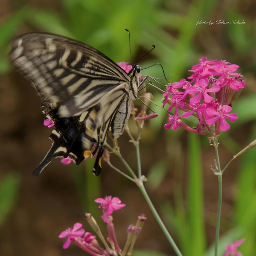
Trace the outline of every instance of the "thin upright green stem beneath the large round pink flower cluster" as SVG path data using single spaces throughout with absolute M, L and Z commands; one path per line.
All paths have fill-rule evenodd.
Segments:
M 221 202 L 222 202 L 222 172 L 221 172 L 221 165 L 220 159 L 218 155 L 218 137 L 216 138 L 215 143 L 215 155 L 216 155 L 216 162 L 218 166 L 218 211 L 217 211 L 217 222 L 216 222 L 216 234 L 215 234 L 215 253 L 214 255 L 217 256 L 218 254 L 218 241 L 219 241 L 219 234 L 220 234 L 220 224 L 221 224 Z

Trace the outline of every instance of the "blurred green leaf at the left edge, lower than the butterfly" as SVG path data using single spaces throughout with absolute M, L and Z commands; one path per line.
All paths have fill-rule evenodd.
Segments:
M 0 183 L 0 225 L 15 205 L 20 185 L 20 175 L 12 172 Z

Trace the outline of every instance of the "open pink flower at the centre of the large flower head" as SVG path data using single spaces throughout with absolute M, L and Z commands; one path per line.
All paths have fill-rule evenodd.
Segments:
M 216 93 L 220 90 L 220 86 L 218 84 L 215 84 L 212 88 L 208 88 L 208 79 L 201 79 L 198 83 L 196 83 L 194 86 L 189 87 L 188 93 L 189 94 L 195 94 L 198 93 L 197 96 L 192 97 L 190 99 L 191 103 L 198 103 L 200 102 L 201 98 L 204 99 L 204 102 L 211 102 L 213 100 L 213 97 L 209 96 L 207 93 Z

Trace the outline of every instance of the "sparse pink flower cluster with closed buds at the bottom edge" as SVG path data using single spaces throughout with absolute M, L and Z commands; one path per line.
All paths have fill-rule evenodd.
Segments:
M 67 240 L 63 244 L 63 248 L 67 249 L 70 246 L 71 242 L 73 242 L 82 250 L 86 251 L 87 253 L 93 256 L 110 256 L 110 255 L 117 255 L 117 253 L 119 255 L 122 255 L 122 253 L 123 255 L 125 255 L 129 247 L 130 247 L 129 253 L 131 253 L 134 247 L 134 243 L 137 239 L 137 236 L 139 235 L 143 227 L 143 224 L 147 219 L 145 215 L 141 215 L 138 217 L 138 221 L 136 225 L 130 225 L 128 227 L 128 231 L 127 231 L 128 238 L 125 243 L 125 247 L 122 251 L 116 239 L 115 228 L 112 222 L 113 217 L 111 214 L 113 213 L 113 211 L 116 211 L 118 209 L 121 209 L 122 207 L 125 207 L 125 204 L 122 204 L 119 198 L 117 197 L 112 198 L 112 196 L 105 196 L 105 198 L 97 198 L 95 202 L 101 204 L 99 209 L 102 209 L 104 213 L 104 215 L 102 215 L 102 219 L 104 222 L 107 223 L 107 230 L 108 230 L 107 240 L 111 244 L 111 247 L 108 245 L 108 243 L 105 241 L 104 237 L 102 236 L 102 232 L 99 228 L 99 225 L 97 224 L 93 216 L 90 213 L 85 213 L 85 218 L 87 219 L 88 223 L 93 228 L 93 230 L 96 232 L 96 234 L 99 236 L 99 239 L 105 245 L 105 249 L 99 244 L 99 242 L 96 239 L 96 236 L 93 236 L 92 233 L 89 233 L 89 232 L 85 233 L 84 229 L 81 228 L 82 224 L 79 222 L 74 224 L 73 228 L 71 227 L 67 228 L 66 230 L 61 232 L 61 234 L 58 236 L 59 238 L 67 237 Z M 133 235 L 136 237 L 134 238 Z

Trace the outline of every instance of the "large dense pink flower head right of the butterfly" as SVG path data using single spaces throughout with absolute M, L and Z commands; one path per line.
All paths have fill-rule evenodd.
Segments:
M 230 122 L 238 118 L 236 113 L 230 113 L 232 105 L 239 96 L 245 82 L 239 73 L 238 65 L 227 61 L 207 61 L 207 57 L 200 59 L 194 65 L 188 77 L 190 81 L 181 79 L 179 82 L 169 83 L 163 94 L 163 106 L 169 103 L 168 111 L 174 108 L 174 114 L 169 114 L 166 129 L 173 130 L 182 127 L 188 131 L 218 135 L 220 131 L 227 131 Z M 179 111 L 185 111 L 179 115 Z M 198 123 L 190 128 L 180 120 L 182 117 L 196 116 Z

